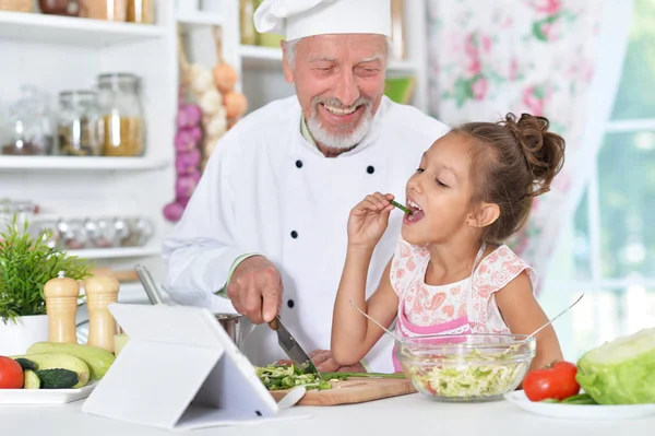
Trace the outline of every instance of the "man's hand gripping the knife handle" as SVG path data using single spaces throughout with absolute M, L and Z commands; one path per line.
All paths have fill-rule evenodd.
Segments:
M 227 296 L 233 306 L 251 322 L 270 322 L 282 306 L 282 276 L 263 256 L 242 260 L 233 272 Z

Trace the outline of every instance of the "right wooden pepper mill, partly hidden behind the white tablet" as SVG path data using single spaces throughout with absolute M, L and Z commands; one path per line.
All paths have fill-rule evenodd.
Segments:
M 88 345 L 114 353 L 116 320 L 107 308 L 118 302 L 120 284 L 114 276 L 94 275 L 84 282 L 88 308 Z

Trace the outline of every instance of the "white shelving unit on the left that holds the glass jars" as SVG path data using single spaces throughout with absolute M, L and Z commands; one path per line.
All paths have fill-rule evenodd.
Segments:
M 127 72 L 141 79 L 146 131 L 145 154 L 140 157 L 0 155 L 0 198 L 34 201 L 44 215 L 53 217 L 147 217 L 155 234 L 144 247 L 72 254 L 117 270 L 144 263 L 160 279 L 160 244 L 170 229 L 162 210 L 175 195 L 177 39 L 172 0 L 157 1 L 156 15 L 156 24 L 146 25 L 0 11 L 3 115 L 23 84 L 47 92 L 56 116 L 60 92 L 96 90 L 99 74 Z M 4 126 L 5 119 L 0 121 Z M 5 134 L 0 132 L 0 138 Z M 147 301 L 140 286 L 123 286 L 121 293 L 121 298 Z

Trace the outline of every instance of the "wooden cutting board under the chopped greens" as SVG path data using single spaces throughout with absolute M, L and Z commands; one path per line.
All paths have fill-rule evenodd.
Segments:
M 297 405 L 355 404 L 383 398 L 415 393 L 412 381 L 401 378 L 350 377 L 347 380 L 331 381 L 332 389 L 308 390 Z M 279 401 L 288 390 L 273 390 L 271 394 Z

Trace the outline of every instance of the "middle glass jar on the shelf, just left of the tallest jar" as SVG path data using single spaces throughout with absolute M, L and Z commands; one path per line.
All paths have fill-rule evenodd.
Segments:
M 59 154 L 67 156 L 98 156 L 97 95 L 93 91 L 59 93 L 57 133 Z

